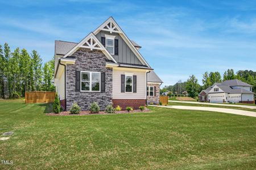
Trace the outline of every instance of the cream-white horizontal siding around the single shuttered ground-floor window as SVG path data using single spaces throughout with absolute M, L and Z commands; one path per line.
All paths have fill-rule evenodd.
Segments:
M 137 75 L 137 92 L 121 92 L 121 75 Z M 113 69 L 113 99 L 146 99 L 146 71 L 126 71 Z

